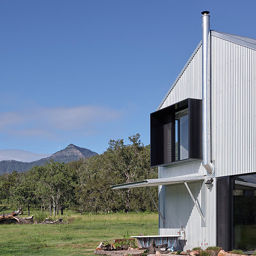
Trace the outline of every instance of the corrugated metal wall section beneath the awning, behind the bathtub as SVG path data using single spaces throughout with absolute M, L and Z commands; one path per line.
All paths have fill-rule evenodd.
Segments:
M 215 183 L 215 179 L 214 182 Z M 186 232 L 186 245 L 178 245 L 176 249 L 192 249 L 193 247 L 215 246 L 216 245 L 216 190 L 215 186 L 212 190 L 206 189 L 206 197 L 202 196 L 201 186 L 205 186 L 202 182 L 188 183 L 189 188 L 199 205 L 202 207 L 206 203 L 206 226 L 201 225 L 201 217 L 196 209 L 192 198 L 189 195 L 184 184 L 168 185 L 165 187 L 165 199 L 159 198 L 160 209 L 165 205 L 165 228 L 163 221 L 159 221 L 160 235 L 177 235 L 181 226 Z M 161 194 L 161 193 L 160 193 Z M 205 202 L 203 202 L 204 200 Z M 179 244 L 179 242 L 178 242 Z M 203 245 L 201 245 L 203 244 Z M 205 245 L 207 244 L 207 245 Z

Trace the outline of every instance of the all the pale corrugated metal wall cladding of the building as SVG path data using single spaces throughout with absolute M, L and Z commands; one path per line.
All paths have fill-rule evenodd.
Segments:
M 211 80 L 215 175 L 256 172 L 256 51 L 211 36 Z M 187 98 L 201 99 L 201 47 L 160 109 Z M 159 167 L 159 178 L 195 175 L 206 175 L 201 161 Z M 201 183 L 189 186 L 202 204 Z M 159 208 L 166 219 L 165 227 L 159 221 L 160 235 L 176 235 L 183 225 L 188 240 L 184 249 L 201 246 L 204 239 L 209 246 L 216 245 L 216 185 L 206 189 L 206 227 L 184 184 L 160 186 L 159 191 Z

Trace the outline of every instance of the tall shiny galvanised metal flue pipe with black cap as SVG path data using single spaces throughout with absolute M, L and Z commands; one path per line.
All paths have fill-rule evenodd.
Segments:
M 210 15 L 202 11 L 202 158 L 203 166 L 211 175 L 211 109 L 210 109 Z

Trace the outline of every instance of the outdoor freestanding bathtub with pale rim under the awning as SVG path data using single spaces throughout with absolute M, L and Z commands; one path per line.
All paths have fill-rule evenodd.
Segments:
M 155 245 L 168 244 L 167 248 L 175 248 L 177 246 L 178 238 L 181 236 L 175 235 L 163 235 L 163 236 L 131 236 L 131 238 L 137 238 L 139 244 L 142 247 L 149 247 L 150 242 L 154 239 Z

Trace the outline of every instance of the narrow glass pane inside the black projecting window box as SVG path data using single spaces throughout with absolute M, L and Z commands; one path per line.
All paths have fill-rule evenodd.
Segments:
M 175 113 L 175 161 L 189 158 L 188 109 Z

